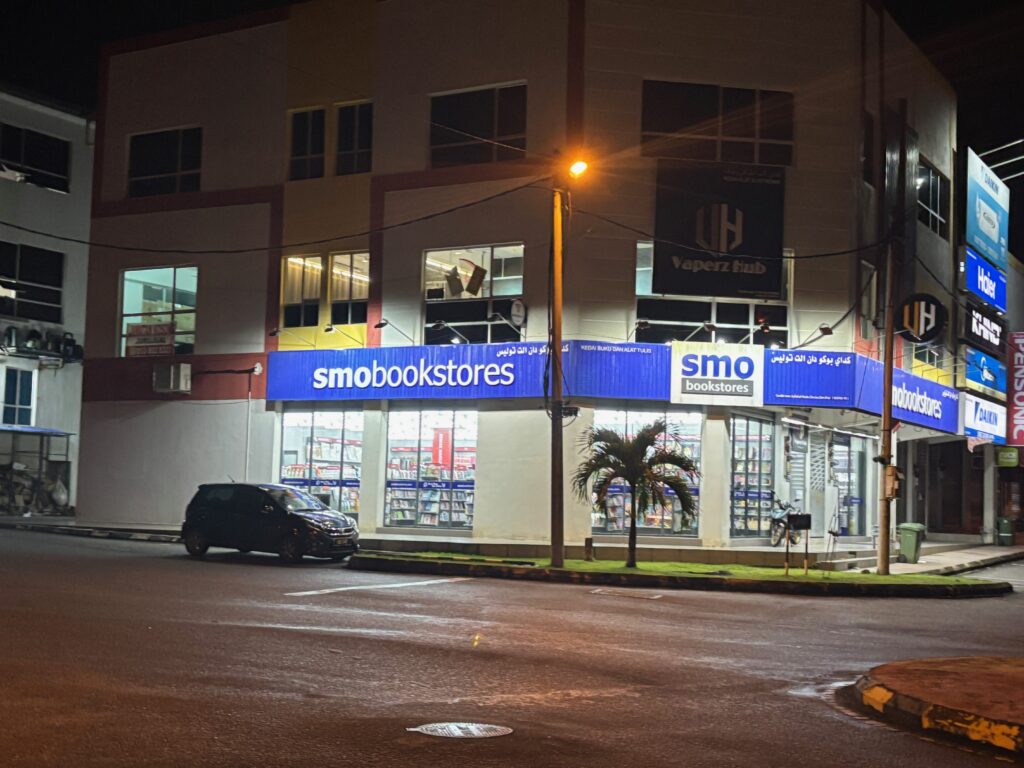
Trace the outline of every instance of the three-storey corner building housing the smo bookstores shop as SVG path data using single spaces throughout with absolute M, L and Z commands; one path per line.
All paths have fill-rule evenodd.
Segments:
M 103 72 L 93 239 L 128 248 L 93 249 L 83 519 L 176 524 L 233 477 L 365 535 L 546 540 L 552 176 L 582 154 L 566 468 L 660 417 L 699 514 L 640 511 L 651 541 L 756 543 L 776 495 L 877 534 L 879 275 L 898 241 L 900 290 L 951 307 L 957 253 L 955 99 L 876 3 L 309 2 Z M 963 451 L 954 355 L 898 359 L 902 459 Z M 190 391 L 154 392 L 174 364 Z M 627 504 L 566 489 L 566 540 Z

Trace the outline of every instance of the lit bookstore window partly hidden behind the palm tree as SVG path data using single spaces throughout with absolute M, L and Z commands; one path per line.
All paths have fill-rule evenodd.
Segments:
M 595 411 L 594 427 L 597 429 L 612 429 L 620 434 L 632 438 L 636 433 L 655 419 L 665 419 L 669 431 L 663 435 L 660 444 L 689 457 L 700 468 L 700 432 L 703 417 L 699 413 L 679 412 L 665 414 L 662 412 L 638 411 Z M 682 473 L 678 473 L 681 474 Z M 689 485 L 694 501 L 699 506 L 699 476 L 683 475 Z M 666 489 L 666 506 L 650 505 L 641 510 L 637 518 L 637 532 L 643 536 L 656 534 L 696 536 L 698 515 L 692 519 L 683 520 L 680 505 L 672 490 Z M 629 485 L 616 482 L 609 488 L 607 497 L 607 514 L 596 506 L 591 512 L 591 525 L 595 534 L 623 534 L 629 530 L 630 510 Z

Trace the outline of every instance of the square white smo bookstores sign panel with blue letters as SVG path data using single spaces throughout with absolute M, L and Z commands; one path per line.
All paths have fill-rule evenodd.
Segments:
M 757 344 L 675 342 L 672 401 L 694 404 L 761 406 L 764 347 Z

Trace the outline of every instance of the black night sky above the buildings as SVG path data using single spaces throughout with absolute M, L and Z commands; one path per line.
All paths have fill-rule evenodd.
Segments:
M 829 0 L 821 0 L 827 3 Z M 685 2 L 685 0 L 679 0 Z M 239 13 L 283 0 L 3 0 L 0 87 L 89 113 L 102 43 Z M 900 25 L 956 88 L 962 148 L 1024 137 L 1024 0 L 887 0 Z M 990 163 L 1024 155 L 989 157 Z M 998 169 L 1024 170 L 1024 162 Z M 1024 176 L 1010 182 L 1011 250 L 1024 254 Z

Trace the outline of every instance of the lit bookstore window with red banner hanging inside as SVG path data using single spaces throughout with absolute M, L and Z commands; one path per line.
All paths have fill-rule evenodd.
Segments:
M 476 412 L 392 412 L 385 525 L 471 528 Z

